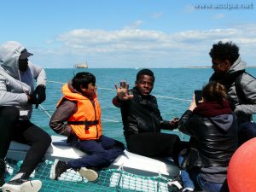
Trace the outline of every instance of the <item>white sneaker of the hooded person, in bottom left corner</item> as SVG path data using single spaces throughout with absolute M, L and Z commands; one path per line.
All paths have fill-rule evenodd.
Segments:
M 3 192 L 38 192 L 42 187 L 40 180 L 15 179 L 3 184 Z

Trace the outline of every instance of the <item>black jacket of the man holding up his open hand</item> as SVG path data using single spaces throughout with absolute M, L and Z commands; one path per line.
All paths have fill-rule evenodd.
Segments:
M 141 132 L 160 132 L 160 129 L 175 128 L 169 121 L 162 119 L 154 96 L 142 96 L 137 88 L 129 91 L 134 96 L 131 100 L 119 101 L 119 105 L 113 102 L 116 107 L 121 108 L 125 137 Z

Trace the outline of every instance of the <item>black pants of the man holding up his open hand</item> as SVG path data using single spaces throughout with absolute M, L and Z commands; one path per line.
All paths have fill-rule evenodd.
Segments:
M 133 134 L 126 137 L 125 140 L 131 153 L 149 157 L 172 157 L 176 159 L 180 150 L 180 139 L 174 134 L 145 132 Z

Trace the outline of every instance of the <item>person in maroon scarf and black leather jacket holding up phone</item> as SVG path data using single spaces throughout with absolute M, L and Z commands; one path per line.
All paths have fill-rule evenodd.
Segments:
M 179 161 L 189 172 L 195 189 L 219 192 L 227 177 L 230 158 L 237 148 L 236 116 L 227 101 L 224 85 L 216 81 L 205 85 L 202 101 L 196 105 L 193 97 L 189 109 L 178 122 L 178 129 L 190 136 L 189 148 L 179 155 Z M 183 172 L 181 175 L 183 178 Z

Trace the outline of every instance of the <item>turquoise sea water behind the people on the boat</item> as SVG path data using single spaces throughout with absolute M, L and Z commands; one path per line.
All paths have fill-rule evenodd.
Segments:
M 50 135 L 57 135 L 49 128 L 49 116 L 54 113 L 56 103 L 62 96 L 61 86 L 70 81 L 75 73 L 89 72 L 96 76 L 98 99 L 102 108 L 103 134 L 125 142 L 120 110 L 112 103 L 113 96 L 116 96 L 114 84 L 125 80 L 132 88 L 139 70 L 133 68 L 47 68 L 45 69 L 48 79 L 46 100 L 41 107 L 33 110 L 32 122 L 49 132 Z M 155 76 L 152 94 L 156 96 L 161 116 L 166 120 L 174 116 L 180 117 L 189 108 L 194 90 L 201 90 L 212 74 L 211 68 L 154 68 L 152 71 Z M 256 68 L 248 68 L 247 72 L 256 77 Z M 186 138 L 180 134 L 179 136 Z

